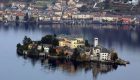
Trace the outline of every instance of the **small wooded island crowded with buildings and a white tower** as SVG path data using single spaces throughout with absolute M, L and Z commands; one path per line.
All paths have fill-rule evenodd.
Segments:
M 98 38 L 94 38 L 94 43 L 91 45 L 83 37 L 70 35 L 45 35 L 39 41 L 33 41 L 25 36 L 23 43 L 17 44 L 17 54 L 30 58 L 66 59 L 78 62 L 117 65 L 130 63 L 119 58 L 115 50 L 99 45 Z

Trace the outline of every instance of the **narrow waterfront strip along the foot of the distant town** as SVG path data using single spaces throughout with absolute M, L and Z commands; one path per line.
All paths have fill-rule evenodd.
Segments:
M 47 24 L 66 24 L 66 25 L 81 25 L 81 24 L 97 24 L 97 25 L 118 25 L 118 26 L 140 26 L 140 24 L 131 24 L 131 23 L 118 23 L 118 22 L 99 22 L 99 21 L 92 21 L 92 22 L 64 22 L 64 21 L 21 21 L 21 22 L 16 22 L 16 21 L 0 21 L 0 23 L 3 24 L 9 24 L 9 23 L 16 23 L 16 24 L 36 24 L 36 25 L 47 25 Z

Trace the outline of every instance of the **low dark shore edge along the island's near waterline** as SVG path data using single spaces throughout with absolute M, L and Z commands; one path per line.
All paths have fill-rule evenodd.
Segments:
M 24 57 L 29 57 L 29 58 L 41 58 L 41 59 L 64 59 L 64 60 L 72 60 L 72 61 L 76 61 L 76 62 L 95 62 L 95 63 L 103 63 L 103 64 L 115 64 L 115 65 L 126 65 L 126 64 L 130 64 L 129 61 L 125 61 L 122 59 L 118 59 L 117 61 L 99 61 L 99 60 L 80 60 L 80 59 L 72 59 L 72 58 L 68 58 L 65 56 L 51 56 L 51 55 L 32 55 L 32 56 L 28 56 L 27 54 L 22 53 L 21 51 L 17 51 L 17 54 L 19 56 L 24 56 Z

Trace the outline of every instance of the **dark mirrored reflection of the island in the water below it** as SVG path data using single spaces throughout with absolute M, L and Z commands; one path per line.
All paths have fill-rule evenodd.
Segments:
M 19 56 L 20 57 L 20 56 Z M 98 62 L 75 62 L 63 59 L 31 59 L 23 57 L 25 60 L 29 60 L 32 66 L 35 66 L 38 61 L 41 67 L 45 71 L 57 71 L 62 70 L 67 74 L 76 74 L 79 71 L 92 72 L 93 80 L 97 80 L 98 75 L 108 74 L 111 71 L 117 70 L 118 65 L 103 64 Z M 46 73 L 47 74 L 47 73 Z

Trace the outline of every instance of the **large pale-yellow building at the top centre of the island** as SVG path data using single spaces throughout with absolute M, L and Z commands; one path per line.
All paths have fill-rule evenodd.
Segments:
M 59 46 L 70 47 L 72 49 L 77 48 L 78 46 L 84 46 L 83 38 L 62 38 L 59 40 Z

